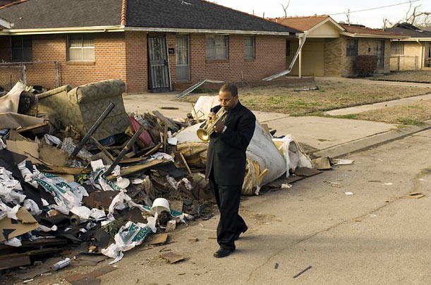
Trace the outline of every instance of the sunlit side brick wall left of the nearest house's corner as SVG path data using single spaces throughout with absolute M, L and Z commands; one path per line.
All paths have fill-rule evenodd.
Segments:
M 95 33 L 95 62 L 67 61 L 66 35 L 33 35 L 32 61 L 25 63 L 28 85 L 42 85 L 47 89 L 57 85 L 76 87 L 111 78 L 126 81 L 126 49 L 124 34 Z M 0 61 L 10 61 L 7 40 L 0 41 Z M 57 62 L 54 63 L 54 62 Z M 0 69 L 0 85 L 16 71 Z M 8 81 L 8 80 L 7 80 Z

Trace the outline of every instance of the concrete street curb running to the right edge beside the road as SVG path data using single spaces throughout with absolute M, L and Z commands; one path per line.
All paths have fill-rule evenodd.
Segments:
M 312 152 L 312 154 L 316 157 L 341 157 L 351 152 L 358 152 L 375 145 L 382 145 L 387 142 L 399 140 L 408 135 L 413 135 L 414 133 L 426 131 L 429 129 L 431 129 L 430 123 L 425 123 L 423 126 L 408 126 L 406 128 L 400 128 L 384 133 L 377 133 L 366 138 L 352 140 L 351 142 L 345 142 L 340 145 L 334 145 L 333 147 L 328 147 L 324 150 Z

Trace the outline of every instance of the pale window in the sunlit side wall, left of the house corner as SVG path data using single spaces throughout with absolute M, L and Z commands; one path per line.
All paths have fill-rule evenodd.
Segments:
M 95 43 L 92 35 L 69 35 L 69 61 L 95 61 Z

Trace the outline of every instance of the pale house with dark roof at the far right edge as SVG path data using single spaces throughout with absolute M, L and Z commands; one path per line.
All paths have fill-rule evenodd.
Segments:
M 387 32 L 409 36 L 391 41 L 391 71 L 431 70 L 431 31 L 397 23 Z

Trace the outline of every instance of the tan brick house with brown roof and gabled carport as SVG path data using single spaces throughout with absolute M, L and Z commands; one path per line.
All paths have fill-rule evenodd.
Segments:
M 376 55 L 375 72 L 389 73 L 390 40 L 405 38 L 382 30 L 339 24 L 326 15 L 272 20 L 303 31 L 300 40 L 306 36 L 300 59 L 293 66 L 291 75 L 356 76 L 355 58 L 361 54 Z M 287 45 L 290 46 L 286 49 L 289 64 L 299 43 L 291 41 Z

